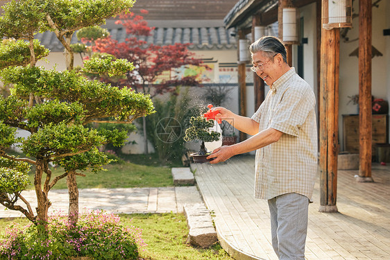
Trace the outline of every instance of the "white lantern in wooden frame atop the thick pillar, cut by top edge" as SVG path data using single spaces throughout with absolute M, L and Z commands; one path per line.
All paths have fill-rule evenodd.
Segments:
M 322 0 L 322 26 L 327 30 L 352 27 L 352 0 Z

